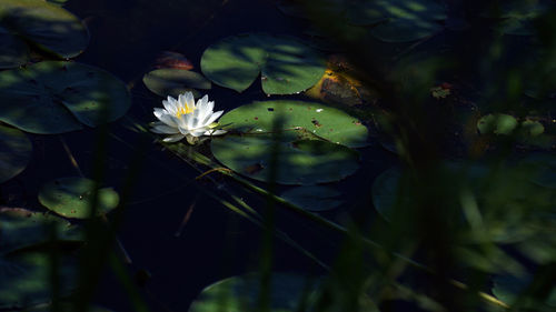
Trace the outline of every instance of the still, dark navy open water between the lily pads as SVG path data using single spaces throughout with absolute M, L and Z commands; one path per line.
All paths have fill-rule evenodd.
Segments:
M 301 31 L 299 21 L 281 14 L 274 1 L 71 0 L 66 8 L 85 20 L 91 37 L 89 47 L 76 61 L 108 70 L 132 87 L 132 108 L 128 114 L 142 123 L 153 121 L 152 108 L 161 107 L 162 99 L 147 90 L 141 78 L 162 51 L 185 54 L 193 63 L 193 71 L 200 72 L 202 51 L 221 38 L 254 31 L 294 36 Z M 216 101 L 217 110 L 226 111 L 252 100 L 269 99 L 262 93 L 260 82 L 241 94 L 217 85 L 208 94 Z M 118 122 L 111 125 L 111 132 L 132 148 L 110 139 L 105 173 L 107 185 L 120 190 L 123 177 L 129 173 L 129 163 L 137 153 L 145 155 L 119 239 L 133 262 L 130 273 L 146 270 L 151 274 L 142 294 L 152 311 L 187 311 L 205 286 L 257 270 L 261 236 L 258 228 L 199 194 L 193 184 L 183 187 L 199 172 L 161 151 L 160 145 L 152 143 L 142 151 L 138 148 L 138 135 Z M 89 178 L 93 177 L 97 134 L 97 130 L 86 130 L 61 135 Z M 77 175 L 59 137 L 37 137 L 33 144 L 36 158 L 8 187 L 9 192 L 27 193 L 30 202 L 22 204 L 28 207 L 39 207 L 33 197 L 42 183 Z M 346 207 L 324 215 L 342 220 L 346 212 L 354 210 L 348 208 L 368 209 L 371 181 L 393 159 L 379 148 L 367 148 L 359 172 L 339 183 L 348 194 Z M 215 191 L 214 184 L 197 183 Z M 189 222 L 181 235 L 176 236 L 193 203 Z M 249 204 L 262 208 L 266 203 L 254 198 L 249 199 Z M 278 221 L 278 225 L 301 245 L 329 262 L 334 259 L 338 238 L 288 213 L 280 212 Z M 310 260 L 279 240 L 275 242 L 275 270 L 322 273 Z M 132 310 L 126 292 L 109 270 L 96 302 L 113 311 Z

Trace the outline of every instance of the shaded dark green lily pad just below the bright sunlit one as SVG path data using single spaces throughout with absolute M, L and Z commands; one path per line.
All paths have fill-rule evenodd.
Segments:
M 354 173 L 359 153 L 340 144 L 318 140 L 278 138 L 271 134 L 215 138 L 211 150 L 229 169 L 249 178 L 267 181 L 276 153 L 275 181 L 282 184 L 315 184 L 338 181 Z

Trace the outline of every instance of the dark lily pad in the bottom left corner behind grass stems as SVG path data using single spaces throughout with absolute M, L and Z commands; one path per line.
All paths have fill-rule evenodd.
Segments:
M 68 256 L 59 256 L 59 291 L 68 294 L 76 286 L 77 268 Z M 51 264 L 47 253 L 0 256 L 0 309 L 21 309 L 50 301 L 50 281 Z

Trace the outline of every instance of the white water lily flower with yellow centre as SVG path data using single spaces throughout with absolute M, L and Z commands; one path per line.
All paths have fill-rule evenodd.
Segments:
M 214 112 L 215 102 L 208 100 L 208 95 L 195 103 L 193 93 L 179 94 L 178 100 L 168 97 L 162 101 L 163 109 L 155 108 L 155 115 L 160 120 L 152 124 L 155 133 L 170 134 L 165 142 L 177 142 L 187 138 L 193 142 L 201 135 L 219 135 L 225 130 L 215 130 L 218 125 L 215 121 L 224 111 Z

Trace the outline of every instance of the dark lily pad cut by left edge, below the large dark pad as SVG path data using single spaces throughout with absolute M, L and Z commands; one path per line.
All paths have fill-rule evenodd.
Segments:
M 31 159 L 32 144 L 18 129 L 0 125 L 0 183 L 26 169 Z

